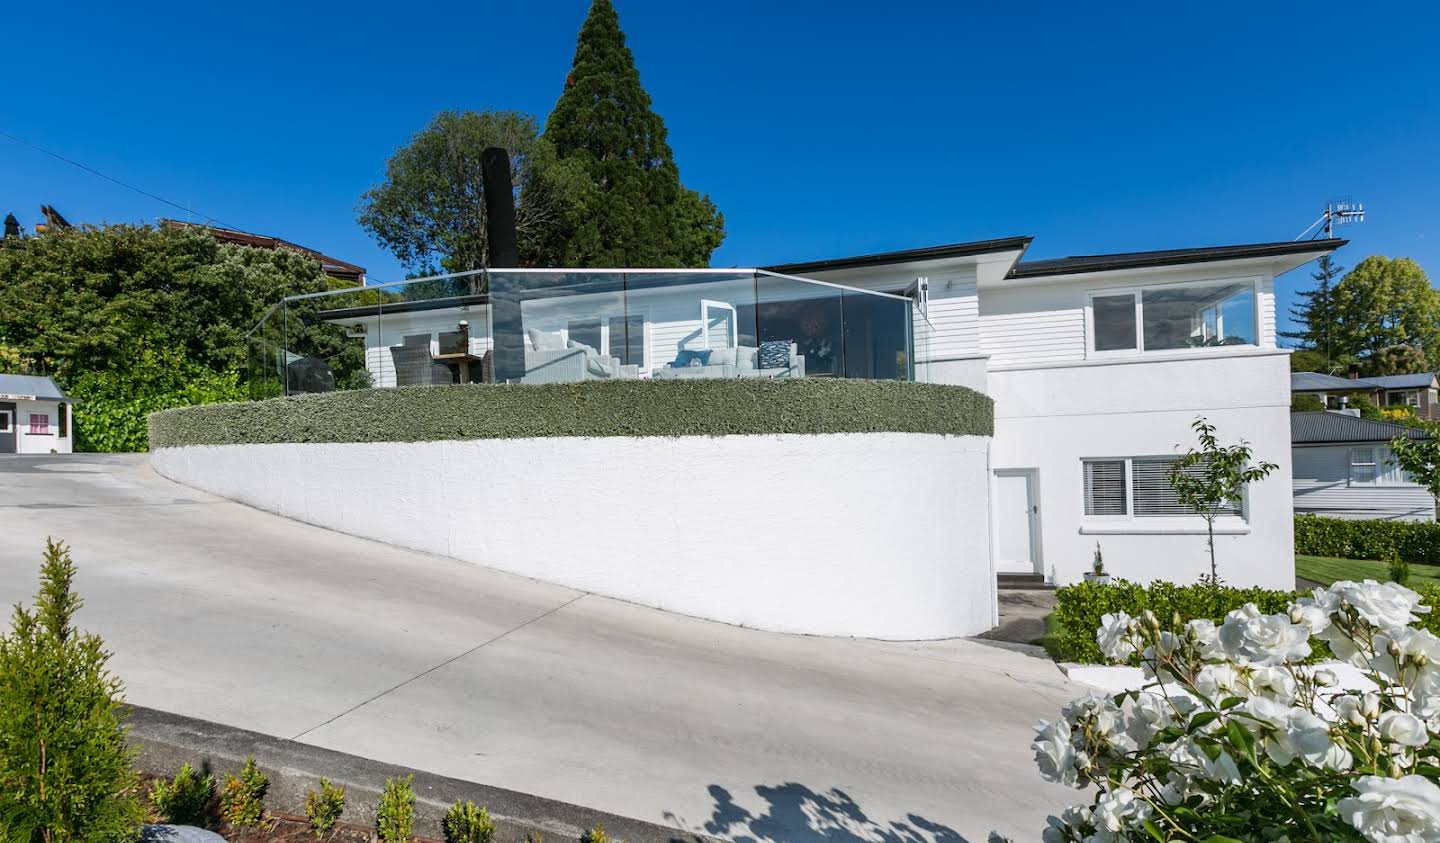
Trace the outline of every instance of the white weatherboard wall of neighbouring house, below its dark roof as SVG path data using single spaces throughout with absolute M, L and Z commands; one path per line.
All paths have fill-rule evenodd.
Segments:
M 1377 481 L 1351 484 L 1351 448 L 1374 448 Z M 1431 522 L 1436 501 L 1410 483 L 1381 442 L 1295 447 L 1295 512 L 1341 519 Z

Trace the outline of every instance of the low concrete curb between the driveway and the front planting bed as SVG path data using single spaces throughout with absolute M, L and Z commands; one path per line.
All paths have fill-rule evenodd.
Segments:
M 305 813 L 305 793 L 318 787 L 324 775 L 346 788 L 344 820 L 373 824 L 374 806 L 380 801 L 384 780 L 415 774 L 415 833 L 442 837 L 441 820 L 456 800 L 474 800 L 490 810 L 495 820 L 498 843 L 524 843 L 527 836 L 544 834 L 549 842 L 580 840 L 603 824 L 612 840 L 624 843 L 704 843 L 703 834 L 667 829 L 569 803 L 547 800 L 513 790 L 490 787 L 422 770 L 410 770 L 331 749 L 321 749 L 284 738 L 272 738 L 197 721 L 168 712 L 130 708 L 130 742 L 137 749 L 137 767 L 145 772 L 173 775 L 180 765 L 223 774 L 238 772 L 248 755 L 271 778 L 266 807 L 292 814 Z

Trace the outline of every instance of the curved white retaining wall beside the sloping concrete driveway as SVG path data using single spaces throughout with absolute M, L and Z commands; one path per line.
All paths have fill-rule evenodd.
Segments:
M 151 463 L 323 527 L 732 624 L 943 638 L 995 623 L 985 437 L 197 445 Z

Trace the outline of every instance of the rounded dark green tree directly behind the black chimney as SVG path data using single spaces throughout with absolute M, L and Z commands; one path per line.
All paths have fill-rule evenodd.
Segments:
M 521 262 L 553 264 L 547 249 L 573 228 L 590 192 L 577 164 L 560 161 L 536 118 L 517 111 L 442 111 L 390 156 L 384 182 L 360 197 L 360 225 L 412 272 L 490 265 L 480 156 L 510 153 Z

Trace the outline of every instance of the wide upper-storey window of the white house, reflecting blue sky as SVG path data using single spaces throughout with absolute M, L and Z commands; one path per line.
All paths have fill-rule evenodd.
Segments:
M 1185 284 L 1092 294 L 1094 352 L 1256 344 L 1254 284 Z

